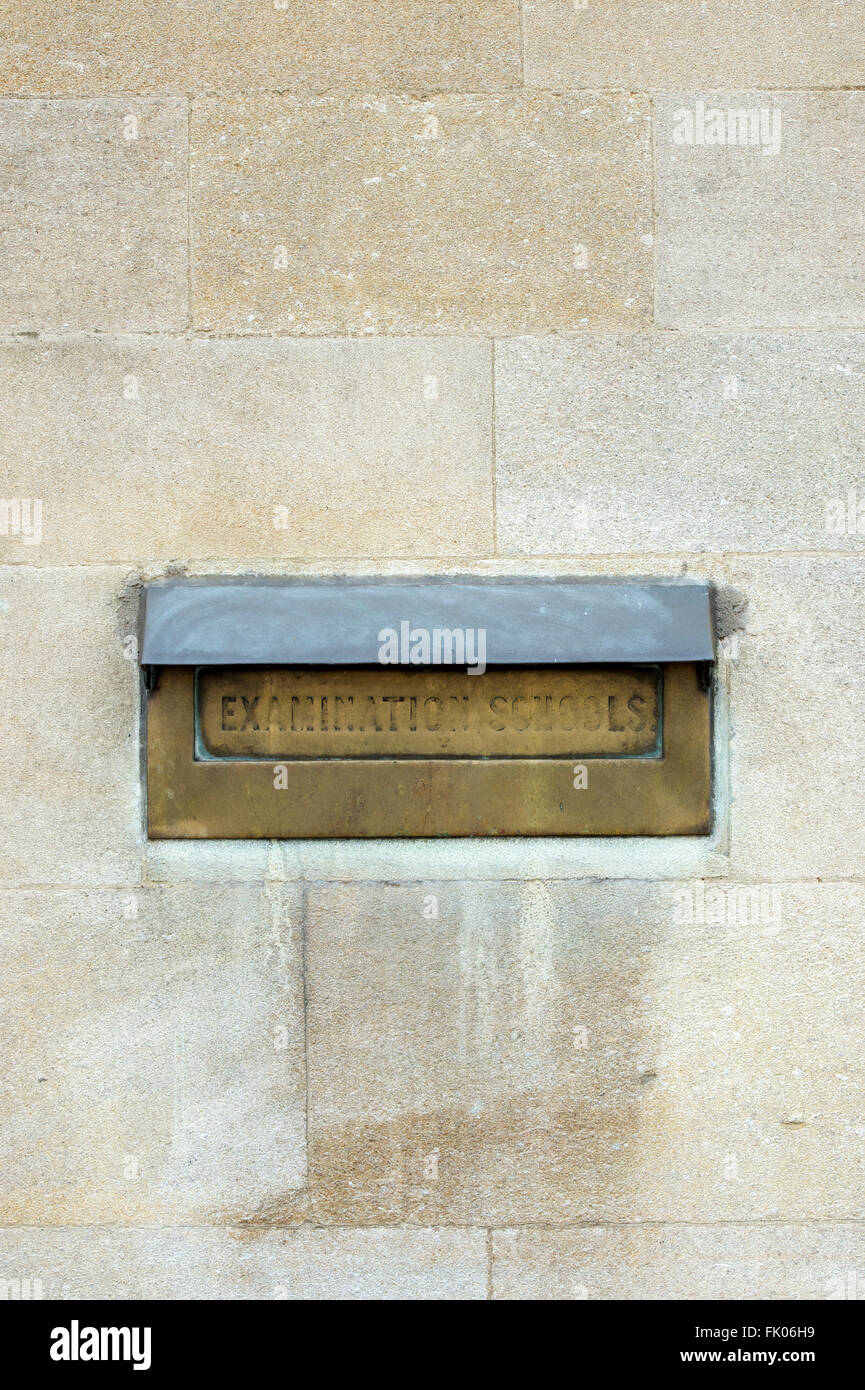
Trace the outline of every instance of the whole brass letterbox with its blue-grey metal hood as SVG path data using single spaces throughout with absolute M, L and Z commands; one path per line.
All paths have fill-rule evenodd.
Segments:
M 706 834 L 697 584 L 165 581 L 153 838 Z

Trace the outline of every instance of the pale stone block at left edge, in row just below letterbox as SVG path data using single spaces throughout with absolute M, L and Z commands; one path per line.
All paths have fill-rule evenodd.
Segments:
M 298 1215 L 292 890 L 7 891 L 0 937 L 6 1225 Z

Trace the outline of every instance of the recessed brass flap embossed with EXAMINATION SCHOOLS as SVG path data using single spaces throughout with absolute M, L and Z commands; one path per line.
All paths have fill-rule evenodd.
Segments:
M 199 746 L 213 758 L 591 758 L 651 753 L 647 667 L 207 667 Z

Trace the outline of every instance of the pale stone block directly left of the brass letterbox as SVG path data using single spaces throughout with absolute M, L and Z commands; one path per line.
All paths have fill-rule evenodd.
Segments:
M 111 569 L 0 567 L 0 884 L 140 881 L 139 676 L 124 659 L 135 632 L 124 588 Z

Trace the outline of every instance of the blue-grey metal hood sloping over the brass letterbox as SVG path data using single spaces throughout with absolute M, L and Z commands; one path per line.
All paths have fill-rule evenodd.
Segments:
M 164 580 L 146 587 L 147 666 L 360 666 L 380 634 L 487 632 L 491 666 L 711 662 L 705 584 L 668 580 Z

